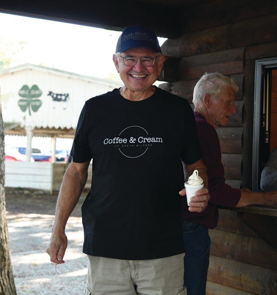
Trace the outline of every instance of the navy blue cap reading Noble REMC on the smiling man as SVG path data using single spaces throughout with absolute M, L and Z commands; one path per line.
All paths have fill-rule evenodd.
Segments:
M 142 24 L 128 26 L 123 30 L 117 41 L 115 53 L 133 47 L 146 47 L 162 53 L 155 30 Z

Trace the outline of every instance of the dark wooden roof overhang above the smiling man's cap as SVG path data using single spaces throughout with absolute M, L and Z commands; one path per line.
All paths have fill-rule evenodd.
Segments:
M 130 24 L 144 23 L 160 37 L 181 35 L 184 9 L 209 0 L 142 1 L 9 1 L 2 0 L 0 12 L 122 31 Z

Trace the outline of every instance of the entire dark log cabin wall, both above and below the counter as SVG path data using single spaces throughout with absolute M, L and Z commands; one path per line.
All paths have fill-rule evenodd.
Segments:
M 185 11 L 183 20 L 182 36 L 162 45 L 166 61 L 160 80 L 167 83 L 160 87 L 187 98 L 194 108 L 193 88 L 205 72 L 219 72 L 236 82 L 237 112 L 216 131 L 226 183 L 251 188 L 255 60 L 277 56 L 275 3 L 215 1 Z M 219 211 L 218 226 L 209 230 L 212 245 L 206 294 L 277 294 L 276 249 L 245 223 L 248 213 Z M 277 215 L 253 216 L 259 222 L 265 219 L 276 236 Z

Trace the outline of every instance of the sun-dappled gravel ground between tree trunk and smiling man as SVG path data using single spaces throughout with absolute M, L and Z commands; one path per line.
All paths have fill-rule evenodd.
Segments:
M 88 258 L 82 253 L 82 194 L 67 226 L 68 248 L 62 273 L 45 252 L 51 236 L 57 194 L 5 188 L 12 270 L 17 295 L 83 295 Z

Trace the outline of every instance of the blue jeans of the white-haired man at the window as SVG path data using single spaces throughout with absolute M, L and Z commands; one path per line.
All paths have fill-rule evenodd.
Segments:
M 209 229 L 196 222 L 182 221 L 182 224 L 184 285 L 188 295 L 205 295 L 211 246 Z

